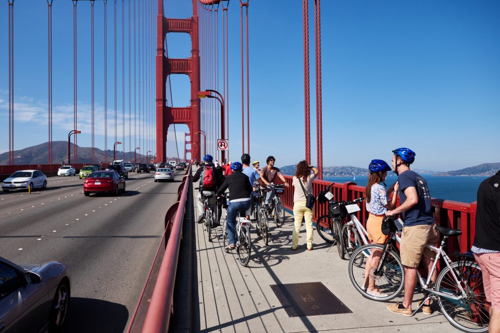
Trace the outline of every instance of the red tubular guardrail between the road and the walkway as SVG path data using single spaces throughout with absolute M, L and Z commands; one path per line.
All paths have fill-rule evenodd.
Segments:
M 147 276 L 146 283 L 137 302 L 137 307 L 135 308 L 130 320 L 127 333 L 140 330 L 138 329 L 140 323 L 135 323 L 134 321 L 136 321 L 135 319 L 138 317 L 138 312 L 140 311 L 139 307 L 141 304 L 144 304 L 144 307 L 147 306 L 147 301 L 143 300 L 144 292 L 148 284 L 152 283 L 152 281 L 150 281 L 151 273 L 153 271 L 153 267 L 155 267 L 157 258 L 161 256 L 161 254 L 163 254 L 163 258 L 161 260 L 161 265 L 159 266 L 157 278 L 154 284 L 154 290 L 152 291 L 151 299 L 147 306 L 147 314 L 145 315 L 141 331 L 147 333 L 168 331 L 190 174 L 191 166 L 188 167 L 182 179 L 182 183 L 179 185 L 177 191 L 177 202 L 175 202 L 165 214 L 165 231 L 163 233 L 164 242 L 162 240 L 158 247 L 156 256 Z M 163 249 L 164 251 L 162 253 Z M 142 311 L 143 310 L 144 309 L 142 309 Z

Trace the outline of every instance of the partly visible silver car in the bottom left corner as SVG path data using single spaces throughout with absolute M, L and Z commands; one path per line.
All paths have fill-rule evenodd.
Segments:
M 70 283 L 58 261 L 16 265 L 0 257 L 0 331 L 57 330 L 66 319 Z

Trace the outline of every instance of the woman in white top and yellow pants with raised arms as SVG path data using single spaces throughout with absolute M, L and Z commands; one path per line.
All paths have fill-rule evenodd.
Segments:
M 305 195 L 312 193 L 312 180 L 314 180 L 318 172 L 319 171 L 314 166 L 309 165 L 305 160 L 301 160 L 297 164 L 297 170 L 292 180 L 292 185 L 295 186 L 293 192 L 293 217 L 295 218 L 295 225 L 291 235 L 292 250 L 297 249 L 298 234 L 300 232 L 300 226 L 302 225 L 302 218 L 305 220 L 307 249 L 312 249 L 312 209 L 305 206 Z M 300 184 L 302 184 L 304 189 L 302 189 Z

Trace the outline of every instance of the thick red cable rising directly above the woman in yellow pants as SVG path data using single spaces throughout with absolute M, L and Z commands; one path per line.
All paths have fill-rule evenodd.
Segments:
M 309 13 L 307 0 L 302 0 L 302 30 L 304 49 L 304 129 L 305 160 L 311 162 L 310 98 L 309 98 Z

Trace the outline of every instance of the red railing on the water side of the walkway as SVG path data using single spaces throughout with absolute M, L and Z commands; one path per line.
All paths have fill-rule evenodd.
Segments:
M 281 194 L 281 200 L 288 209 L 293 209 L 293 190 L 291 186 L 292 177 L 285 175 L 286 182 L 290 187 L 285 187 L 284 193 Z M 276 177 L 276 184 L 282 181 Z M 331 182 L 324 180 L 314 180 L 312 182 L 312 192 L 317 195 L 321 190 L 325 189 Z M 330 189 L 336 200 L 348 201 L 364 196 L 364 186 L 356 185 L 354 182 L 335 183 Z M 399 198 L 397 199 L 399 204 Z M 470 250 L 475 233 L 475 211 L 476 202 L 464 203 L 444 199 L 431 199 L 432 212 L 434 213 L 436 224 L 447 228 L 460 229 L 462 234 L 460 237 L 449 237 L 446 246 L 448 253 L 453 253 L 453 250 L 461 252 Z M 313 220 L 314 222 L 321 215 L 327 213 L 327 204 L 314 205 Z M 361 204 L 361 210 L 357 212 L 357 218 L 366 226 L 368 212 L 364 204 Z

